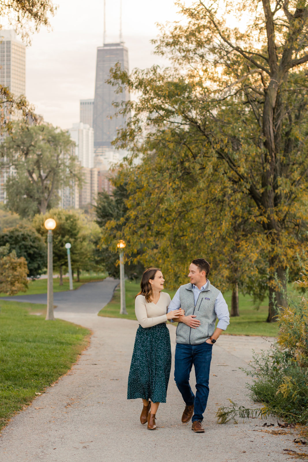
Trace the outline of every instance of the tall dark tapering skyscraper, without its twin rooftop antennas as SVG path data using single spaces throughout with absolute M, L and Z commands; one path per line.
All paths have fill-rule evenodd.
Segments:
M 124 127 L 127 117 L 115 117 L 117 109 L 113 102 L 129 100 L 129 92 L 115 93 L 115 87 L 106 83 L 110 77 L 110 68 L 120 63 L 128 71 L 128 50 L 123 43 L 104 43 L 97 48 L 95 97 L 93 110 L 95 166 L 106 168 L 106 154 L 114 148 L 111 142 L 117 136 L 117 130 Z

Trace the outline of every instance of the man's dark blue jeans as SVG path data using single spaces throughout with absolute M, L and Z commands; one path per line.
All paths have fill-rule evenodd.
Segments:
M 194 405 L 192 422 L 203 420 L 210 390 L 212 347 L 210 343 L 206 342 L 199 345 L 177 343 L 175 347 L 175 383 L 187 406 Z M 189 376 L 193 365 L 196 375 L 196 396 L 189 385 Z

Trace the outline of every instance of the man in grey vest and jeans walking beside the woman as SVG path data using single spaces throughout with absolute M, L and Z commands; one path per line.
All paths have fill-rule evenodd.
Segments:
M 204 258 L 193 260 L 188 274 L 190 283 L 178 289 L 168 308 L 168 313 L 179 308 L 185 311 L 176 328 L 175 383 L 186 404 L 182 423 L 192 419 L 196 433 L 204 433 L 202 420 L 209 395 L 212 346 L 229 324 L 228 305 L 222 293 L 206 279 L 210 268 Z M 192 366 L 196 396 L 189 385 Z

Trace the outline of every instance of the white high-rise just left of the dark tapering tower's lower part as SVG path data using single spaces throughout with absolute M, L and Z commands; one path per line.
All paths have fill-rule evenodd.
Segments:
M 76 143 L 75 153 L 80 165 L 86 168 L 94 167 L 94 135 L 93 128 L 83 122 L 72 124 L 68 133 Z

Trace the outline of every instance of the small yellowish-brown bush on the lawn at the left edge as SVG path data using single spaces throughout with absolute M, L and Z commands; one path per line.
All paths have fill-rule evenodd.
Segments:
M 15 295 L 17 292 L 26 292 L 27 262 L 24 257 L 18 258 L 15 250 L 10 253 L 10 246 L 0 247 L 0 292 Z

